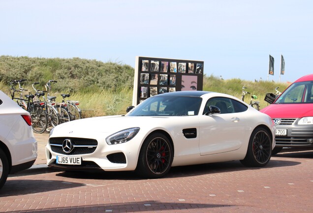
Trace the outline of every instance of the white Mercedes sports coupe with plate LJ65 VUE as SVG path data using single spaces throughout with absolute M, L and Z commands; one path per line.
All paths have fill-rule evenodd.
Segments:
M 272 119 L 221 93 L 184 91 L 151 97 L 126 115 L 56 126 L 47 165 L 63 170 L 136 171 L 160 178 L 173 166 L 241 160 L 262 167 L 270 158 Z

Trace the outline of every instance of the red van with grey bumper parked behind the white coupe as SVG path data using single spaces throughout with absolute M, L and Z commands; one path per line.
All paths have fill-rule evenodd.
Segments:
M 260 111 L 276 125 L 273 154 L 283 147 L 313 148 L 313 74 L 293 82 L 273 104 Z

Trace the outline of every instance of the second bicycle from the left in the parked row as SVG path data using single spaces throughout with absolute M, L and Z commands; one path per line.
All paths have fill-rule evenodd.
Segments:
M 59 117 L 59 113 L 58 113 L 58 110 L 56 109 L 56 107 L 54 106 L 55 103 L 52 102 L 53 98 L 54 97 L 47 97 L 47 100 L 46 101 L 46 98 L 44 97 L 45 93 L 47 91 L 39 91 L 35 88 L 35 85 L 36 84 L 39 84 L 39 82 L 35 82 L 33 83 L 31 86 L 32 88 L 36 91 L 35 93 L 35 97 L 37 99 L 37 101 L 40 103 L 41 106 L 44 106 L 44 109 L 46 110 L 47 112 L 47 116 L 48 116 L 48 127 L 55 127 L 57 125 L 60 124 L 60 117 Z M 42 97 L 43 97 L 43 101 L 40 100 L 40 95 L 36 95 L 36 94 L 42 94 Z M 50 130 L 50 129 L 48 129 Z

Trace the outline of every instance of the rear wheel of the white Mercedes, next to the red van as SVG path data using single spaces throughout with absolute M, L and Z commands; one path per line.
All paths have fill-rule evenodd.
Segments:
M 241 163 L 245 166 L 251 167 L 263 167 L 271 159 L 272 155 L 272 140 L 269 132 L 258 127 L 253 130 L 248 150 L 245 159 L 241 160 Z

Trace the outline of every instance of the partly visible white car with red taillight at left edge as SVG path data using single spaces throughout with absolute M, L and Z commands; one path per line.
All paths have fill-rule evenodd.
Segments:
M 0 188 L 8 174 L 30 168 L 36 158 L 30 113 L 0 91 Z

